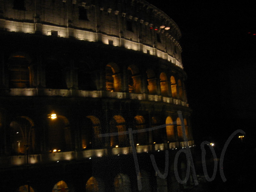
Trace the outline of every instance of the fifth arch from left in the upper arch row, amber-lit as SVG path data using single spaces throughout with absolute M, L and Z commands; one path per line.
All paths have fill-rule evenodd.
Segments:
M 128 67 L 128 86 L 130 93 L 141 93 L 140 71 L 135 65 Z

